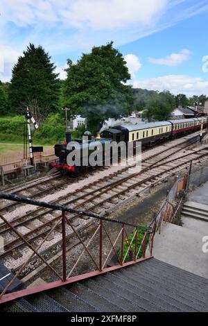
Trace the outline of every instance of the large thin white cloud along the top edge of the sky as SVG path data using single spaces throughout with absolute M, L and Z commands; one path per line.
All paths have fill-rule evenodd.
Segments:
M 168 0 L 1 0 L 1 15 L 19 26 L 64 22 L 79 28 L 120 28 L 150 24 Z

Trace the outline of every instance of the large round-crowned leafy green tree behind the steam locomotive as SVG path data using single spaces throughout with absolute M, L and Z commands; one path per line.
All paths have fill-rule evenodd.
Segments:
M 113 42 L 96 46 L 83 54 L 76 64 L 68 60 L 64 83 L 64 105 L 72 114 L 87 117 L 87 128 L 94 134 L 103 121 L 127 116 L 133 110 L 132 87 L 126 62 Z

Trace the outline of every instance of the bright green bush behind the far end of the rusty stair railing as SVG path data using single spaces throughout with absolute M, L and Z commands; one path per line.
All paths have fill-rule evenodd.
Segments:
M 123 243 L 123 258 L 125 257 L 126 252 L 128 252 L 128 254 L 125 257 L 125 261 L 124 261 L 125 263 L 128 262 L 128 261 L 132 261 L 132 259 L 134 259 L 133 256 L 135 255 L 135 244 L 136 243 L 137 243 L 137 247 L 136 247 L 137 248 L 137 252 L 138 252 L 138 250 L 140 248 L 139 255 L 138 255 L 137 258 L 139 259 L 143 255 L 141 243 L 142 243 L 142 241 L 144 239 L 144 234 L 146 233 L 146 225 L 145 224 L 140 224 L 139 226 L 141 228 L 139 228 L 138 229 L 138 232 L 137 232 L 137 241 L 136 241 L 136 237 L 134 237 L 136 229 L 134 229 L 132 231 L 132 233 L 128 234 L 128 239 L 129 239 L 130 243 L 131 243 L 132 239 L 134 238 L 133 241 L 132 241 L 132 244 L 131 244 L 132 250 L 131 249 L 128 250 L 130 248 L 129 241 L 128 241 L 127 238 L 124 239 L 124 243 Z M 148 243 L 148 238 L 149 238 L 149 236 L 146 235 L 146 243 Z M 133 252 L 133 255 L 132 255 L 132 252 Z M 121 250 L 119 250 L 119 259 L 121 259 Z

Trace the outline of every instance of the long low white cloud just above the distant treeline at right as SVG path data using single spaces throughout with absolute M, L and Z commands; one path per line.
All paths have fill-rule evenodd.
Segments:
M 147 78 L 146 80 L 135 80 L 133 87 L 143 89 L 153 89 L 159 92 L 169 90 L 173 94 L 184 93 L 187 96 L 193 94 L 207 94 L 208 95 L 208 81 L 202 78 L 195 78 L 185 75 L 168 75 L 159 76 L 157 78 Z

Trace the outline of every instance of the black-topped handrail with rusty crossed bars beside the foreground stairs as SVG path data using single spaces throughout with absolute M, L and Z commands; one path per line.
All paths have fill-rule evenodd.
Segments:
M 90 275 L 101 275 L 101 274 L 107 273 L 109 271 L 115 271 L 118 268 L 123 268 L 123 266 L 128 266 L 129 264 L 137 264 L 137 263 L 139 263 L 139 261 L 143 261 L 144 259 L 149 259 L 152 257 L 151 255 L 146 256 L 146 248 L 148 246 L 148 241 L 146 241 L 146 235 L 153 234 L 153 230 L 149 227 L 146 228 L 142 225 L 141 226 L 134 225 L 132 223 L 118 221 L 118 220 L 115 220 L 112 218 L 107 218 L 105 216 L 100 216 L 98 214 L 94 214 L 94 213 L 90 213 L 90 212 L 83 212 L 83 211 L 80 211 L 77 209 L 73 209 L 71 207 L 66 207 L 64 205 L 54 205 L 51 203 L 44 203 L 39 200 L 33 200 L 31 198 L 26 198 L 25 196 L 6 194 L 3 191 L 0 191 L 0 198 L 4 198 L 7 200 L 14 200 L 19 203 L 26 203 L 26 204 L 31 204 L 31 205 L 35 205 L 35 206 L 60 210 L 62 212 L 62 216 L 53 225 L 53 227 L 51 225 L 51 230 L 48 230 L 49 232 L 46 234 L 43 241 L 41 241 L 37 245 L 37 247 L 35 247 L 33 243 L 30 243 L 24 235 L 22 235 L 20 232 L 18 232 L 18 230 L 16 230 L 15 225 L 12 225 L 12 221 L 8 221 L 5 216 L 0 215 L 0 218 L 2 218 L 4 223 L 6 223 L 10 227 L 10 229 L 17 234 L 19 239 L 24 241 L 26 246 L 32 250 L 31 255 L 29 257 L 26 257 L 26 261 L 22 262 L 21 266 L 19 266 L 20 268 L 17 271 L 17 273 L 15 273 L 14 277 L 12 277 L 12 280 L 10 280 L 8 282 L 8 284 L 6 284 L 3 291 L 0 293 L 0 304 L 3 302 L 8 302 L 10 300 L 14 300 L 15 298 L 21 298 L 24 295 L 28 295 L 29 293 L 38 293 L 38 292 L 44 291 L 46 289 L 53 289 L 57 286 L 62 286 L 64 284 L 69 284 L 71 282 L 77 282 L 78 280 L 84 280 L 85 278 L 87 279 L 88 277 L 90 277 Z M 85 243 L 85 240 L 82 239 L 81 235 L 78 233 L 78 230 L 76 230 L 76 228 L 72 225 L 70 218 L 66 216 L 65 212 L 72 212 L 75 214 L 80 214 L 80 215 L 97 218 L 100 221 L 100 225 L 98 226 L 98 228 L 96 228 L 96 231 L 92 235 L 91 239 L 89 239 L 88 243 Z M 119 234 L 116 235 L 116 239 L 112 239 L 112 237 L 110 237 L 109 231 L 107 231 L 107 228 L 105 228 L 104 221 L 117 223 L 117 224 L 121 225 L 121 230 L 119 231 Z M 53 267 L 51 265 L 51 262 L 47 261 L 44 258 L 43 252 L 40 252 L 40 249 L 41 249 L 43 243 L 46 241 L 46 239 L 49 238 L 51 233 L 55 230 L 55 228 L 58 227 L 58 225 L 60 223 L 62 225 L 62 275 L 59 275 L 58 271 L 56 271 L 55 266 Z M 78 238 L 78 240 L 80 241 L 80 244 L 84 247 L 83 251 L 80 253 L 80 256 L 76 260 L 75 264 L 73 264 L 73 266 L 71 266 L 69 272 L 67 272 L 68 259 L 67 259 L 66 225 L 69 225 L 69 227 L 73 231 L 73 234 Z M 139 233 L 139 229 L 143 230 L 144 236 L 141 239 L 142 256 L 140 255 L 141 246 L 140 246 L 139 250 L 137 248 L 137 235 L 130 241 L 130 238 L 128 237 L 128 234 L 127 234 L 127 230 L 125 230 L 125 225 L 129 225 L 130 227 L 133 227 L 135 229 L 135 231 L 134 231 L 135 234 Z M 100 232 L 98 232 L 98 231 L 100 231 Z M 106 240 L 108 240 L 110 243 L 110 250 L 107 253 L 107 257 L 105 257 L 105 259 L 104 259 L 104 255 L 103 255 L 103 248 L 104 248 L 103 240 L 105 240 L 103 231 L 105 232 L 105 234 L 107 236 Z M 92 251 L 92 249 L 89 248 L 89 245 L 92 243 L 92 240 L 95 238 L 96 234 L 99 234 L 99 246 L 98 246 L 99 253 L 98 253 L 98 255 L 96 255 L 96 257 L 94 257 L 95 256 L 94 252 Z M 124 237 L 125 236 L 126 236 L 126 239 L 128 239 L 128 246 L 129 246 L 128 252 L 129 252 L 129 250 L 130 250 L 130 252 L 132 252 L 132 257 L 130 257 L 130 261 L 128 261 L 128 262 L 124 262 L 125 257 L 128 254 L 128 252 L 125 253 L 125 257 L 123 259 L 123 249 L 124 249 L 123 246 L 124 246 Z M 149 237 L 149 239 L 150 238 L 153 239 L 153 237 Z M 120 243 L 119 239 L 120 239 L 121 243 Z M 119 243 L 118 243 L 118 241 L 119 241 Z M 135 245 L 134 249 L 133 249 L 133 245 Z M 121 250 L 121 258 L 120 258 L 120 254 L 119 254 L 119 250 L 118 250 L 119 248 L 117 248 L 117 246 L 119 246 L 119 248 L 121 248 L 120 249 Z M 153 243 L 151 243 L 151 247 L 153 247 Z M 110 259 L 110 256 L 112 255 L 112 251 L 114 251 L 117 259 L 116 259 L 116 262 L 114 262 L 115 264 L 113 264 L 113 266 L 107 267 L 107 261 Z M 73 277 L 73 276 L 71 277 L 72 273 L 74 272 L 75 268 L 78 266 L 78 263 L 80 262 L 80 259 L 85 252 L 87 252 L 87 255 L 89 255 L 90 259 L 93 261 L 96 271 L 85 273 L 85 274 L 79 274 L 79 275 L 76 275 L 75 277 Z M 58 281 L 46 283 L 46 284 L 44 284 L 44 286 L 41 286 L 41 287 L 36 286 L 36 287 L 33 287 L 32 289 L 24 289 L 24 290 L 15 291 L 14 293 L 7 293 L 8 290 L 10 289 L 10 286 L 12 285 L 12 283 L 15 282 L 17 277 L 19 277 L 21 275 L 22 271 L 30 263 L 31 259 L 33 259 L 33 256 L 35 254 L 37 255 L 38 259 L 40 259 L 40 261 L 42 261 L 43 264 L 46 265 L 46 267 L 49 268 L 49 270 L 53 274 L 55 274 L 56 277 L 58 277 Z M 70 266 L 70 264 L 69 264 L 69 266 Z M 93 273 L 95 273 L 95 274 L 93 274 Z

